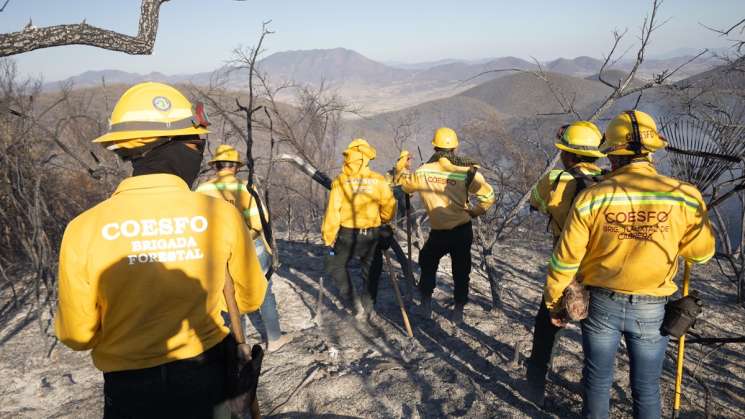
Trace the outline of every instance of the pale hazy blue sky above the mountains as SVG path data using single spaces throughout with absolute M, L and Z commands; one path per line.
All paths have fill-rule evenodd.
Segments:
M 24 74 L 58 80 L 86 70 L 166 74 L 212 70 L 240 45 L 252 45 L 263 20 L 276 33 L 267 53 L 345 47 L 378 61 L 478 59 L 513 55 L 541 60 L 607 51 L 614 28 L 636 40 L 648 0 L 171 0 L 161 7 L 152 56 L 92 47 L 37 50 L 15 57 Z M 0 31 L 80 22 L 135 34 L 139 0 L 10 0 Z M 745 17 L 745 0 L 667 0 L 669 19 L 654 36 L 652 54 L 680 48 L 720 48 L 728 42 L 703 28 L 729 27 Z

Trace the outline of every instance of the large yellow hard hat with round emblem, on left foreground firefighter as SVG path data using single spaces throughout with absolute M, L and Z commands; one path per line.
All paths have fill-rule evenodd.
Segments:
M 93 140 L 107 148 L 132 149 L 160 137 L 208 134 L 204 105 L 192 105 L 175 88 L 145 82 L 130 87 L 114 106 L 109 132 Z

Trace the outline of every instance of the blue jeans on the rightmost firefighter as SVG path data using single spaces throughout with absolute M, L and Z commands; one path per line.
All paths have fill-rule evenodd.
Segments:
M 626 339 L 629 352 L 634 417 L 660 417 L 660 376 L 668 340 L 660 334 L 665 302 L 665 297 L 590 288 L 590 312 L 582 321 L 584 417 L 608 417 L 613 367 L 621 336 Z

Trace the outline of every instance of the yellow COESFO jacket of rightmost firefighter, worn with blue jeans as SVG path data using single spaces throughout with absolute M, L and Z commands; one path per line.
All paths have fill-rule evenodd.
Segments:
M 546 306 L 556 306 L 575 275 L 584 285 L 668 296 L 677 289 L 678 256 L 705 263 L 713 255 L 701 193 L 636 161 L 575 199 L 551 256 Z

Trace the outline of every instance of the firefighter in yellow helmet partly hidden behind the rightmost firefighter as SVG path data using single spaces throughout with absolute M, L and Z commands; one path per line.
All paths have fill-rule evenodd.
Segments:
M 554 169 L 541 178 L 533 188 L 530 205 L 549 217 L 549 230 L 553 242 L 559 239 L 574 197 L 582 189 L 591 186 L 603 171 L 595 162 L 603 157 L 598 150 L 603 134 L 588 121 L 576 121 L 564 125 L 556 135 L 555 146 L 561 150 L 564 169 Z M 530 398 L 543 404 L 546 374 L 551 360 L 551 351 L 556 333 L 561 328 L 551 323 L 546 305 L 541 299 L 533 328 L 533 345 L 527 362 L 527 378 Z

